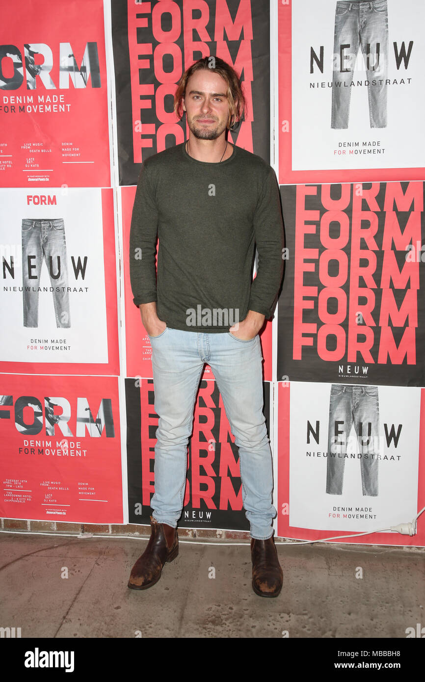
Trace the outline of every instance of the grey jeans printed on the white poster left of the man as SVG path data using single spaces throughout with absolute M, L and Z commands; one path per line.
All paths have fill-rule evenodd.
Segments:
M 71 326 L 68 265 L 63 220 L 22 221 L 24 327 L 38 327 L 40 274 L 46 261 L 53 293 L 56 326 Z

